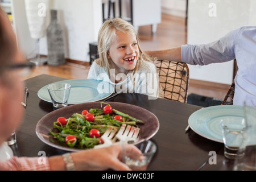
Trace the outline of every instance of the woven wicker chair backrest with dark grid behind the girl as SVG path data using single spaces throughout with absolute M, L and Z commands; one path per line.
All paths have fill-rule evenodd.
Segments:
M 189 68 L 185 63 L 155 60 L 156 71 L 159 73 L 159 83 L 162 92 L 159 97 L 187 103 Z

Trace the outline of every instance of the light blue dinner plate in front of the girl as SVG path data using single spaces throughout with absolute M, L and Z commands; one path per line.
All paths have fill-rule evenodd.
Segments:
M 85 102 L 100 101 L 106 97 L 109 97 L 114 92 L 114 87 L 105 81 L 90 79 L 72 79 L 57 81 L 51 84 L 55 83 L 67 83 L 71 85 L 68 104 L 80 104 Z M 48 85 L 43 86 L 38 91 L 38 97 L 44 101 L 52 102 L 47 90 Z

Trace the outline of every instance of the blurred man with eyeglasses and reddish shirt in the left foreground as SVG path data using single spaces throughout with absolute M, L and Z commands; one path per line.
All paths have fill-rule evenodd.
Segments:
M 16 46 L 15 34 L 6 13 L 0 8 L 0 146 L 20 125 L 24 97 L 24 84 L 18 74 L 25 67 L 24 56 Z M 15 114 L 14 114 L 15 111 Z M 137 150 L 129 146 L 130 150 Z M 39 164 L 38 157 L 17 157 L 0 162 L 0 170 L 130 170 L 122 163 L 119 145 L 67 153 L 64 156 L 46 157 L 46 164 Z

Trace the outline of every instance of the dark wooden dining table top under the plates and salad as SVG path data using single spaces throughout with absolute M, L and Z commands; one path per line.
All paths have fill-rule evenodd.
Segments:
M 65 78 L 39 75 L 24 80 L 29 90 L 24 118 L 16 130 L 16 143 L 10 146 L 16 156 L 35 157 L 62 155 L 65 150 L 49 146 L 36 135 L 39 120 L 53 111 L 51 102 L 38 97 L 38 91 L 52 82 Z M 138 93 L 119 93 L 105 101 L 122 102 L 142 107 L 153 113 L 159 121 L 159 130 L 150 138 L 157 146 L 148 171 L 224 171 L 232 170 L 234 161 L 224 156 L 224 144 L 195 133 L 188 126 L 189 116 L 201 106 L 185 104 L 164 98 L 148 99 Z M 127 108 L 129 109 L 129 108 Z

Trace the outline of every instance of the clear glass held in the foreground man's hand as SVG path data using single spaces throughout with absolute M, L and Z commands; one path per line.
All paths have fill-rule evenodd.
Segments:
M 156 152 L 156 144 L 150 140 L 136 144 L 141 152 L 126 150 L 122 145 L 123 162 L 134 171 L 145 171 Z

